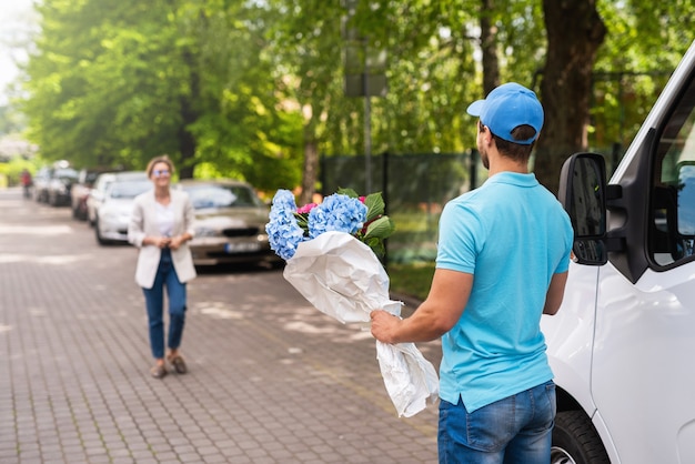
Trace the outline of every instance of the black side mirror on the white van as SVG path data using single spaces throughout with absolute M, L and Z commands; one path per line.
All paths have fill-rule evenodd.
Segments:
M 606 248 L 606 164 L 601 154 L 575 153 L 562 167 L 557 199 L 574 229 L 575 262 L 603 265 Z

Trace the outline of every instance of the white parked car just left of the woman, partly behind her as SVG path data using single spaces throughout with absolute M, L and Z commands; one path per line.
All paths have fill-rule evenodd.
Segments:
M 119 179 L 109 183 L 94 216 L 94 235 L 100 245 L 128 243 L 128 224 L 135 196 L 152 189 L 147 179 Z

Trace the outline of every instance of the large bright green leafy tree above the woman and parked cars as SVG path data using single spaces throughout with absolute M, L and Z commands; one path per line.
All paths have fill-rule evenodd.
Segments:
M 262 14 L 244 4 L 43 2 L 24 104 L 43 155 L 143 167 L 169 153 L 182 178 L 202 163 L 265 186 L 262 167 L 280 161 L 296 178 L 298 118 L 276 110 Z

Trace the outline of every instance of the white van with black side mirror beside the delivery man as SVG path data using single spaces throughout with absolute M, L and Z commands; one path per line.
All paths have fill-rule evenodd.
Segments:
M 695 463 L 695 42 L 615 174 L 571 157 L 563 305 L 543 332 L 557 384 L 553 463 Z

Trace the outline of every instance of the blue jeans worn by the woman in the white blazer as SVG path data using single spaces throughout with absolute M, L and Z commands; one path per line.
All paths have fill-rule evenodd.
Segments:
M 155 360 L 164 357 L 164 288 L 169 300 L 168 346 L 175 350 L 181 345 L 185 322 L 185 284 L 179 281 L 169 249 L 162 250 L 154 285 L 151 289 L 142 289 L 150 326 L 150 347 Z

